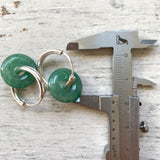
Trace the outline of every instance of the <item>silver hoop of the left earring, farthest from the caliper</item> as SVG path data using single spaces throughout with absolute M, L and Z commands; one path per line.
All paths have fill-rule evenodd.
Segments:
M 41 75 L 38 73 L 38 71 L 36 69 L 29 67 L 29 66 L 19 67 L 18 69 L 21 71 L 29 72 L 30 74 L 32 74 L 34 76 L 34 78 L 36 79 L 36 81 L 38 83 L 38 87 L 39 87 L 39 100 L 34 104 L 29 104 L 19 95 L 18 89 L 11 87 L 11 92 L 12 92 L 14 99 L 21 106 L 25 105 L 25 106 L 31 107 L 31 106 L 35 106 L 35 105 L 39 104 L 42 101 L 42 99 L 44 97 L 44 93 L 45 93 L 45 85 L 44 85 L 43 79 L 41 78 Z

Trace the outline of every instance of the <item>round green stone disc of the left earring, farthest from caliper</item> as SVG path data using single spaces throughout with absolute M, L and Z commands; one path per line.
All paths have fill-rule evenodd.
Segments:
M 30 73 L 18 71 L 18 67 L 22 66 L 30 66 L 37 69 L 37 65 L 32 58 L 24 54 L 13 54 L 3 61 L 1 65 L 1 76 L 9 86 L 26 88 L 35 81 L 35 78 Z

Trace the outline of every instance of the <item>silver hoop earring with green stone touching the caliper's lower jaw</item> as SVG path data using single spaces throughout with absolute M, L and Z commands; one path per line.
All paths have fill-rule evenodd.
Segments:
M 49 77 L 48 81 L 43 75 L 43 62 L 51 54 L 64 55 L 71 66 L 71 70 L 60 68 L 55 70 Z M 77 73 L 74 72 L 73 63 L 67 53 L 61 50 L 50 50 L 44 52 L 38 61 L 38 71 L 43 77 L 46 87 L 51 95 L 63 103 L 75 102 L 81 95 L 82 82 Z

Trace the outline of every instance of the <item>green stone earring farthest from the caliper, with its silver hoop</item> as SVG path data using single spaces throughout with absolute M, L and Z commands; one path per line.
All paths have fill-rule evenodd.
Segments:
M 32 58 L 24 54 L 12 54 L 8 56 L 1 65 L 1 76 L 3 80 L 11 87 L 12 95 L 20 105 L 35 106 L 43 99 L 45 85 L 36 69 L 37 65 Z M 38 82 L 40 99 L 35 104 L 28 104 L 19 96 L 17 89 L 30 86 L 35 79 Z

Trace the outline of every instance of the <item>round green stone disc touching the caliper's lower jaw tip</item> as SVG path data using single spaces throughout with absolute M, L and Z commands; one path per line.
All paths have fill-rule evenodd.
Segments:
M 81 95 L 82 82 L 77 73 L 74 72 L 76 77 L 73 84 L 65 87 L 66 82 L 71 75 L 71 70 L 67 68 L 60 68 L 55 70 L 49 77 L 48 89 L 51 95 L 58 101 L 63 103 L 75 102 Z

